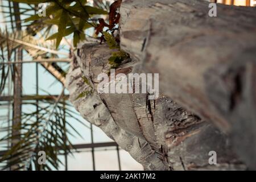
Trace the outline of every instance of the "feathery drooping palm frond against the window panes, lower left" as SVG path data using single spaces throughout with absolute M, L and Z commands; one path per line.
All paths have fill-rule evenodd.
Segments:
M 19 128 L 21 132 L 17 135 L 5 135 L 0 139 L 1 143 L 19 138 L 19 141 L 0 158 L 0 163 L 5 163 L 3 170 L 10 167 L 13 170 L 27 170 L 31 166 L 36 170 L 58 169 L 61 164 L 59 155 L 72 152 L 72 143 L 67 134 L 75 133 L 80 137 L 81 135 L 68 122 L 74 114 L 70 105 L 61 100 L 62 97 L 63 92 L 55 101 L 44 100 L 38 105 L 38 110 L 30 113 L 23 112 L 22 125 Z M 36 105 L 36 103 L 28 104 Z M 77 118 L 76 121 L 83 123 Z M 13 127 L 2 128 L 0 133 L 12 130 Z M 46 152 L 46 165 L 38 164 L 39 151 Z

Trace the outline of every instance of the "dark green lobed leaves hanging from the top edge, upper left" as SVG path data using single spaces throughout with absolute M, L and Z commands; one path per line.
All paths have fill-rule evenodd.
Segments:
M 40 24 L 53 24 L 58 26 L 58 32 L 48 37 L 47 40 L 56 39 L 56 48 L 59 47 L 63 37 L 73 34 L 73 45 L 76 47 L 80 40 L 85 39 L 84 31 L 97 24 L 89 20 L 96 14 L 108 14 L 107 11 L 97 7 L 87 6 L 86 0 L 12 0 L 14 2 L 38 5 L 48 2 L 46 17 L 38 14 L 26 18 L 25 22 L 37 22 Z

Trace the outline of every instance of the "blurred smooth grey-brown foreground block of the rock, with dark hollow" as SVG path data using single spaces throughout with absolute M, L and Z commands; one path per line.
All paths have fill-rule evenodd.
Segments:
M 256 166 L 256 9 L 203 0 L 126 1 L 121 47 L 159 73 L 160 90 L 230 134 Z

